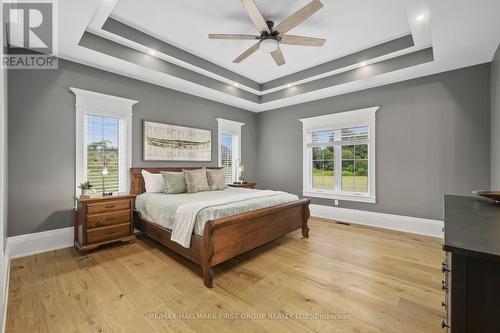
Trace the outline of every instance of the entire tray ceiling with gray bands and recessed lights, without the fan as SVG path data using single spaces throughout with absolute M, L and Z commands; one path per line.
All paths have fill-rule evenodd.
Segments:
M 310 0 L 256 0 L 279 24 Z M 498 0 L 322 0 L 290 33 L 323 48 L 283 45 L 286 65 L 252 42 L 208 33 L 256 33 L 240 0 L 58 2 L 59 56 L 251 111 L 266 111 L 491 61 Z M 134 96 L 123 96 L 134 98 Z

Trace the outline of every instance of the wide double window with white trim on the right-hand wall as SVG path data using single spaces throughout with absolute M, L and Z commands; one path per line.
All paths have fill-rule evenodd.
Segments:
M 305 196 L 375 203 L 378 107 L 301 119 Z

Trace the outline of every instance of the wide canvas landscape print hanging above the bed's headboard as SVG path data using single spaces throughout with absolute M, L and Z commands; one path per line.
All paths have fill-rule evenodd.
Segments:
M 211 161 L 212 132 L 145 121 L 144 160 Z

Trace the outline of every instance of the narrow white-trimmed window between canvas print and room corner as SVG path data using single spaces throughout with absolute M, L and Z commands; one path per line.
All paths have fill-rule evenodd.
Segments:
M 217 118 L 219 132 L 219 167 L 224 168 L 226 184 L 237 181 L 241 164 L 241 126 L 237 121 Z

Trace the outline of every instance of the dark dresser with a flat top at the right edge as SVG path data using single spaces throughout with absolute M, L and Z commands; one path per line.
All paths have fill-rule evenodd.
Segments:
M 444 205 L 442 327 L 453 333 L 499 332 L 500 204 L 447 195 Z

